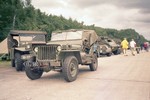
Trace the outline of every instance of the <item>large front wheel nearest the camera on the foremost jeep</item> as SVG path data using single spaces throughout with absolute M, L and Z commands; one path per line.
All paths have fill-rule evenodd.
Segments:
M 66 57 L 63 63 L 62 72 L 66 81 L 75 81 L 78 75 L 77 58 L 74 56 Z

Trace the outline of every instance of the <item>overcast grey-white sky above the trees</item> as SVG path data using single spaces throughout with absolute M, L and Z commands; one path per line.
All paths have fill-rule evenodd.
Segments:
M 32 0 L 35 8 L 102 28 L 135 29 L 150 40 L 150 0 Z

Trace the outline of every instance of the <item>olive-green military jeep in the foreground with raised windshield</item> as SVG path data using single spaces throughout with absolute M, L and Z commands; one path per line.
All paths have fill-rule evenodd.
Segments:
M 53 32 L 51 41 L 35 47 L 30 59 L 24 63 L 29 79 L 35 80 L 43 72 L 59 71 L 68 82 L 75 81 L 79 72 L 78 65 L 89 65 L 96 71 L 97 34 L 93 30 L 65 30 Z M 33 45 L 33 44 L 32 44 Z M 27 55 L 23 55 L 27 56 Z

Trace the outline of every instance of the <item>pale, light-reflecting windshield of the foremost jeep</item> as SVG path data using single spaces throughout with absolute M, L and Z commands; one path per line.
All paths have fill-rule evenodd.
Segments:
M 51 41 L 82 39 L 82 31 L 52 33 Z

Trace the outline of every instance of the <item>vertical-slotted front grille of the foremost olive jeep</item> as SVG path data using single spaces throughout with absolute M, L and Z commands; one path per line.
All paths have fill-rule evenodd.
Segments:
M 38 60 L 52 60 L 56 59 L 56 49 L 58 45 L 39 46 L 37 58 Z

